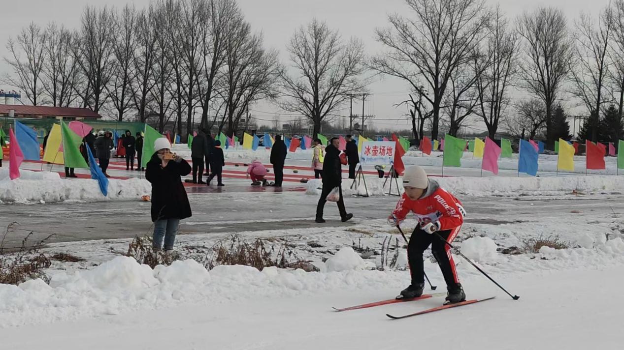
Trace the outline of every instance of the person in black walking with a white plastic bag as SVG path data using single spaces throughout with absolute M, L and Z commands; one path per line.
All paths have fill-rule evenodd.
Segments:
M 347 214 L 346 209 L 344 209 L 344 201 L 343 201 L 343 169 L 342 164 L 340 163 L 340 151 L 338 146 L 340 141 L 338 138 L 332 138 L 331 144 L 325 148 L 325 159 L 323 162 L 323 191 L 321 191 L 321 197 L 318 200 L 318 205 L 316 206 L 316 222 L 323 223 L 323 209 L 325 207 L 325 202 L 327 202 L 327 196 L 334 187 L 338 187 L 338 191 L 340 192 L 340 199 L 338 201 L 338 211 L 340 212 L 340 217 L 343 222 L 348 221 L 353 217 L 353 214 Z

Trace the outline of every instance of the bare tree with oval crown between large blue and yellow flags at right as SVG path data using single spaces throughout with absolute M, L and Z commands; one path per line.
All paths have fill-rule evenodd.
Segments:
M 521 77 L 527 92 L 544 101 L 548 146 L 554 144 L 553 105 L 560 98 L 570 70 L 574 44 L 563 11 L 542 7 L 519 18 L 518 32 L 524 38 Z

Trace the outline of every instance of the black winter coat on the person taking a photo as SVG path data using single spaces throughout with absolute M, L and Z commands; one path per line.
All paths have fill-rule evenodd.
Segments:
M 190 174 L 191 166 L 184 159 L 169 161 L 165 168 L 161 163 L 154 153 L 145 170 L 145 179 L 152 182 L 152 222 L 191 217 L 191 205 L 180 178 Z

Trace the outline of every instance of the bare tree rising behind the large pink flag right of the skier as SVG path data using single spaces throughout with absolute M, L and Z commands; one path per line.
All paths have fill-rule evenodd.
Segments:
M 482 56 L 487 62 L 475 82 L 478 101 L 474 113 L 483 118 L 492 140 L 510 103 L 509 88 L 518 72 L 518 45 L 517 32 L 510 29 L 509 21 L 497 6 Z

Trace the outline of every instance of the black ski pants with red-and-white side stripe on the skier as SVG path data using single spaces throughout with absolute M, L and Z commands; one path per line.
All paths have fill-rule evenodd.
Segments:
M 442 239 L 451 243 L 457 234 L 461 226 L 452 230 L 439 231 Z M 457 278 L 457 271 L 455 270 L 455 262 L 451 255 L 451 247 L 445 244 L 443 240 L 439 239 L 436 234 L 427 234 L 421 230 L 419 226 L 414 229 L 412 236 L 409 237 L 409 244 L 407 244 L 407 260 L 409 261 L 409 271 L 412 275 L 412 284 L 424 283 L 424 263 L 422 261 L 422 253 L 431 245 L 431 252 L 437 260 L 437 264 L 442 270 L 444 275 L 444 281 L 446 286 L 451 289 L 457 289 L 459 278 Z

